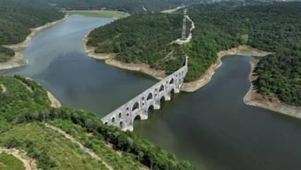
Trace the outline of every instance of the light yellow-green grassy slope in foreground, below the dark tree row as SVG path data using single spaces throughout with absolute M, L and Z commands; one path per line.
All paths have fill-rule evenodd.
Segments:
M 63 135 L 41 123 L 15 125 L 0 137 L 1 146 L 22 148 L 41 169 L 106 169 Z

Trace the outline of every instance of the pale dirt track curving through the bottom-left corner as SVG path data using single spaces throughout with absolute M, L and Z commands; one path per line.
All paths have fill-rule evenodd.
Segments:
M 4 147 L 0 147 L 0 152 L 11 154 L 13 157 L 19 159 L 21 162 L 23 162 L 25 170 L 37 170 L 35 159 L 30 159 L 27 157 L 25 152 L 20 152 L 18 149 L 7 149 Z

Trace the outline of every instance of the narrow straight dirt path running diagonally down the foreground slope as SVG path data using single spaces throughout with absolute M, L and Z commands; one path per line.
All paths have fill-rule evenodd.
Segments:
M 112 168 L 112 166 L 110 166 L 109 164 L 107 164 L 106 162 L 104 162 L 100 157 L 98 157 L 97 154 L 95 154 L 92 150 L 88 149 L 87 147 L 84 147 L 81 142 L 78 142 L 74 137 L 72 137 L 71 135 L 68 135 L 66 132 L 64 132 L 63 130 L 57 128 L 57 127 L 54 127 L 52 125 L 49 125 L 47 123 L 45 123 L 46 127 L 47 128 L 50 128 L 54 131 L 57 131 L 59 132 L 61 135 L 64 135 L 64 137 L 66 137 L 67 139 L 71 140 L 71 142 L 75 143 L 76 145 L 78 145 L 81 149 L 83 149 L 84 152 L 90 154 L 91 157 L 93 157 L 94 159 L 97 159 L 99 161 L 102 162 L 102 164 L 105 164 L 105 166 L 107 167 L 107 169 L 110 169 L 110 170 L 114 170 Z

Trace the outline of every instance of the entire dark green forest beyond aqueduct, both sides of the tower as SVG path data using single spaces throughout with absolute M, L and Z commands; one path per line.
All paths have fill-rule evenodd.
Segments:
M 284 103 L 300 106 L 301 95 L 297 95 L 301 91 L 300 2 L 199 4 L 189 6 L 188 15 L 196 29 L 191 42 L 184 47 L 170 44 L 181 35 L 181 10 L 172 14 L 146 13 L 124 18 L 93 30 L 88 45 L 97 47 L 95 52 L 115 53 L 116 59 L 122 62 L 150 64 L 167 74 L 182 65 L 186 52 L 189 56 L 186 82 L 199 79 L 216 62 L 217 52 L 250 45 L 277 54 L 266 57 L 256 69 L 259 93 L 267 98 L 274 94 Z M 143 22 L 141 18 L 149 22 Z M 274 69 L 266 70 L 272 67 L 271 63 Z

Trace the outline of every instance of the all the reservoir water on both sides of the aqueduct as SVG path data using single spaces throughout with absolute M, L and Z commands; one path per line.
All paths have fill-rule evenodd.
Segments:
M 64 106 L 102 117 L 157 82 L 85 55 L 84 35 L 112 21 L 71 16 L 35 36 L 24 52 L 29 64 L 0 75 L 33 78 Z M 209 84 L 173 96 L 148 120 L 136 121 L 134 132 L 196 169 L 300 169 L 301 121 L 242 101 L 253 59 L 224 57 Z

